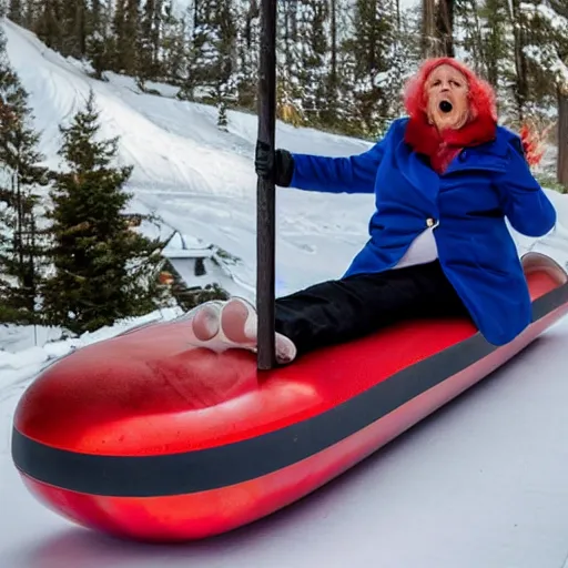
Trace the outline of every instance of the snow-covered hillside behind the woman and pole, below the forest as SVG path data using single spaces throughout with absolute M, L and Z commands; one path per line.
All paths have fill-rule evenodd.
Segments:
M 120 136 L 120 160 L 134 165 L 129 185 L 135 195 L 131 211 L 160 215 L 164 222 L 158 227 L 161 235 L 175 234 L 168 247 L 168 254 L 174 258 L 183 260 L 189 253 L 186 248 L 197 254 L 210 245 L 226 251 L 236 261 L 225 262 L 222 268 L 210 263 L 206 267 L 212 270 L 201 277 L 204 281 L 201 283 L 214 277 L 231 293 L 253 297 L 256 116 L 230 112 L 229 132 L 223 132 L 216 126 L 214 108 L 178 101 L 171 87 L 150 84 L 164 94 L 158 97 L 141 93 L 131 78 L 114 73 L 108 73 L 105 82 L 97 81 L 79 62 L 48 49 L 33 33 L 10 21 L 3 23 L 3 29 L 11 64 L 30 95 L 36 126 L 41 133 L 40 149 L 48 163 L 51 166 L 59 163 L 59 125 L 83 106 L 92 89 L 101 111 L 101 134 Z M 369 146 L 365 141 L 282 123 L 277 125 L 276 141 L 292 151 L 327 155 L 348 155 Z M 556 192 L 549 194 L 560 223 L 538 246 L 548 252 L 554 250 L 557 260 L 566 264 L 568 201 Z M 339 276 L 367 240 L 373 206 L 372 195 L 280 190 L 276 294 Z M 156 227 L 146 230 L 155 232 Z M 518 235 L 517 239 L 523 248 L 534 244 L 532 240 Z M 181 261 L 179 264 L 183 271 Z M 200 284 L 199 278 L 194 284 Z M 0 328 L 0 345 L 3 343 L 4 349 L 21 355 L 21 349 L 36 347 L 41 351 L 40 359 L 49 358 L 43 349 L 45 332 L 37 338 L 27 331 L 24 337 L 14 333 Z M 69 342 L 65 345 L 63 353 L 70 348 Z

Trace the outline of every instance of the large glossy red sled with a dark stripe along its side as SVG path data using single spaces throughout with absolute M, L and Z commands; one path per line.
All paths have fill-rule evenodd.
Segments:
M 523 260 L 534 323 L 495 347 L 420 321 L 258 372 L 180 320 L 55 363 L 18 406 L 12 456 L 40 501 L 134 539 L 204 538 L 296 501 L 486 377 L 568 312 L 567 275 Z

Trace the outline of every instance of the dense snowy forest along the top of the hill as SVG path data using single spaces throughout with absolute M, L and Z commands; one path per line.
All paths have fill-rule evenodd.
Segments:
M 4 0 L 8 17 L 92 74 L 179 88 L 179 98 L 255 111 L 258 0 Z M 404 113 L 420 59 L 466 61 L 497 90 L 501 122 L 558 144 L 568 187 L 565 0 L 278 1 L 277 114 L 296 125 L 375 139 Z

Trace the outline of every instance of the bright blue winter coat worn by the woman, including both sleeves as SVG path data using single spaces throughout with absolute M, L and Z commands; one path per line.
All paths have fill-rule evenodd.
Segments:
M 498 126 L 496 140 L 463 150 L 438 175 L 404 141 L 396 120 L 367 152 L 349 158 L 294 154 L 291 185 L 327 193 L 374 193 L 371 239 L 345 275 L 392 268 L 413 240 L 434 225 L 440 265 L 474 323 L 503 345 L 531 321 L 528 286 L 505 223 L 541 236 L 556 212 L 534 179 L 519 138 Z

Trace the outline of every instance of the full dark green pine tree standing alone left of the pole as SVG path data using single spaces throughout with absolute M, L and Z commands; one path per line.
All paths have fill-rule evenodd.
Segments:
M 55 274 L 45 284 L 48 321 L 71 332 L 94 331 L 148 313 L 162 295 L 162 243 L 129 227 L 123 191 L 131 168 L 113 168 L 118 139 L 99 141 L 99 113 L 87 106 L 61 128 L 65 170 L 55 176 L 48 212 Z

